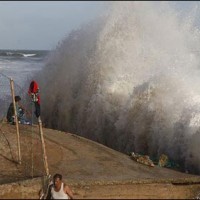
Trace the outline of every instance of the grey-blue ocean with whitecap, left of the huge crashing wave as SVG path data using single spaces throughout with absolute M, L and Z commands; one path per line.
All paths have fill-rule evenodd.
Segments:
M 45 63 L 48 51 L 44 50 L 0 50 L 0 117 L 5 117 L 12 101 L 10 79 L 14 81 L 15 95 L 25 98 L 29 85 L 25 85 Z M 29 108 L 30 110 L 30 108 Z

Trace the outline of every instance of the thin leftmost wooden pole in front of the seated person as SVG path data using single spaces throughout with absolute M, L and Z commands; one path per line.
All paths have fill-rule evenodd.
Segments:
M 14 83 L 13 83 L 12 79 L 10 79 L 10 89 L 11 89 L 11 94 L 12 94 L 12 101 L 13 101 L 13 107 L 14 107 L 14 116 L 15 116 L 15 125 L 16 125 L 16 131 L 17 131 L 18 163 L 21 164 L 21 150 L 20 150 L 20 139 L 19 139 L 19 123 L 18 123 L 18 117 L 17 117 L 17 111 L 16 111 Z

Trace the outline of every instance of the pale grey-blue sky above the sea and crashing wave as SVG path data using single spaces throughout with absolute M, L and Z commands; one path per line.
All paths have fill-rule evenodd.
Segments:
M 194 1 L 172 4 L 187 14 Z M 53 49 L 105 7 L 104 1 L 0 1 L 0 49 Z

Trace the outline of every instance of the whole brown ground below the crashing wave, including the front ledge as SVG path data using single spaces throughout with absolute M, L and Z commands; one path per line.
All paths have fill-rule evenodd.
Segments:
M 45 174 L 38 126 L 0 124 L 0 198 L 37 198 Z M 139 164 L 129 156 L 74 134 L 43 129 L 50 174 L 61 173 L 75 198 L 194 198 L 200 176 Z M 18 183 L 19 180 L 29 179 Z

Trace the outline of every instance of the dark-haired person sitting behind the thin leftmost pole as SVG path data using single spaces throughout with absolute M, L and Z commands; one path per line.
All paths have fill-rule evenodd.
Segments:
M 21 124 L 31 124 L 26 118 L 25 118 L 25 109 L 22 107 L 20 104 L 21 97 L 20 96 L 15 96 L 15 105 L 16 105 L 16 112 L 17 112 L 17 117 L 18 121 Z M 10 103 L 8 111 L 7 111 L 7 121 L 10 124 L 15 124 L 15 115 L 14 115 L 14 105 L 13 103 Z

